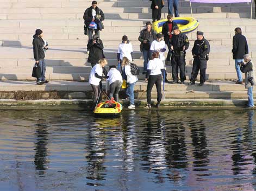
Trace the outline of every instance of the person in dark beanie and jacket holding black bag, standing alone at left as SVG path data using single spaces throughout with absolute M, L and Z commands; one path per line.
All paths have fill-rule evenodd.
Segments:
M 42 85 L 44 83 L 48 83 L 45 79 L 45 72 L 46 72 L 46 63 L 45 63 L 45 50 L 48 49 L 48 44 L 45 45 L 45 41 L 42 39 L 43 31 L 41 29 L 36 29 L 35 34 L 33 36 L 33 52 L 34 52 L 34 59 L 36 64 L 40 67 L 41 75 L 40 77 L 36 78 L 36 84 Z

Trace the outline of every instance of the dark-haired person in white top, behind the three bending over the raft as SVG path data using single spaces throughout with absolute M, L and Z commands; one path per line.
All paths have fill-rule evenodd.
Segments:
M 129 59 L 130 62 L 133 61 L 133 46 L 132 43 L 128 41 L 128 37 L 124 35 L 122 37 L 122 43 L 118 45 L 117 50 L 117 61 L 118 63 L 121 63 L 121 60 L 123 57 L 126 57 Z

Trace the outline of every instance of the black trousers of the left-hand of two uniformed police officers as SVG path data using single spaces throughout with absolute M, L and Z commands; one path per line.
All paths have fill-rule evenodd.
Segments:
M 178 73 L 180 77 L 180 81 L 186 80 L 186 61 L 183 56 L 174 56 L 172 55 L 171 60 L 172 65 L 172 79 L 173 81 L 178 81 Z

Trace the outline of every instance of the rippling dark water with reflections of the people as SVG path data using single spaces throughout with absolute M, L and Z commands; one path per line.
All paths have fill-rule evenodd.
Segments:
M 254 111 L 1 111 L 0 190 L 254 190 Z

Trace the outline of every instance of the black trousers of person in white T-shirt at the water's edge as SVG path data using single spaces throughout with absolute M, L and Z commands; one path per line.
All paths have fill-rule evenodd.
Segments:
M 162 82 L 162 74 L 159 75 L 149 75 L 147 82 L 147 103 L 151 104 L 151 91 L 155 84 L 157 86 L 157 103 L 159 104 L 162 99 L 161 93 L 161 82 Z

